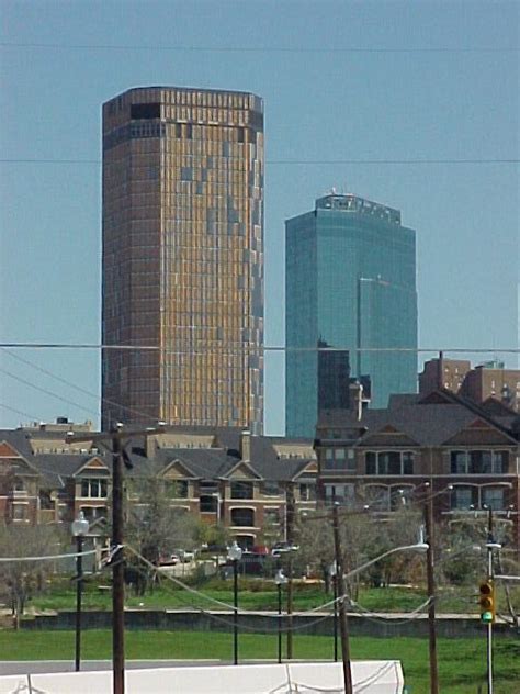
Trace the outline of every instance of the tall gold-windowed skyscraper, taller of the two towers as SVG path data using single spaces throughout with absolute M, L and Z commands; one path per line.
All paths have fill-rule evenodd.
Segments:
M 103 427 L 261 433 L 259 97 L 150 87 L 103 104 L 102 272 Z

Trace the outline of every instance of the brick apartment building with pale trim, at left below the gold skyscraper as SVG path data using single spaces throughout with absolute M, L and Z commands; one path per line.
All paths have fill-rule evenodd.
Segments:
M 8 523 L 70 524 L 82 511 L 103 535 L 111 495 L 111 456 L 92 444 L 66 443 L 71 424 L 0 432 L 0 517 Z M 93 432 L 92 432 L 93 434 Z M 84 437 L 84 426 L 81 427 Z M 222 524 L 244 547 L 286 535 L 287 507 L 316 503 L 310 440 L 251 436 L 238 428 L 171 427 L 129 440 L 128 501 L 143 479 L 165 483 L 171 506 Z

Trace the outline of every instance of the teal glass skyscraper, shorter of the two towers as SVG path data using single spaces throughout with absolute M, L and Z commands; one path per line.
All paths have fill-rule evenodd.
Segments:
M 314 436 L 349 382 L 372 407 L 417 389 L 416 233 L 400 212 L 331 193 L 285 223 L 286 435 Z

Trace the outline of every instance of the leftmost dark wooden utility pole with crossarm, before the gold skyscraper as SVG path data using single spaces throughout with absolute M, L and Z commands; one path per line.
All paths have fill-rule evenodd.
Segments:
M 117 423 L 109 433 L 92 434 L 91 436 L 76 436 L 75 432 L 67 432 L 66 441 L 102 444 L 110 441 L 112 446 L 112 669 L 113 694 L 125 693 L 125 563 L 123 551 L 124 538 L 124 491 L 123 462 L 132 468 L 122 444 L 123 436 L 154 436 L 165 430 L 163 424 L 158 428 L 147 428 L 125 432 Z

